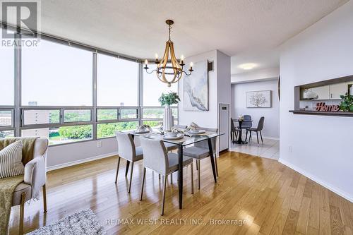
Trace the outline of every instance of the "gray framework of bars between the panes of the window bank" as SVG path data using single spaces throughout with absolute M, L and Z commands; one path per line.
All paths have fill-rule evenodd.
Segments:
M 3 28 L 4 24 L 0 26 Z M 11 26 L 7 25 L 8 28 Z M 17 28 L 13 28 L 13 30 L 20 30 Z M 95 47 L 90 47 L 85 44 L 81 44 L 78 42 L 71 42 L 68 40 L 61 39 L 59 37 L 54 37 L 51 35 L 41 35 L 38 33 L 42 40 L 47 40 L 49 42 L 55 42 L 57 44 L 61 44 L 66 47 L 76 47 L 78 49 L 83 49 L 92 53 L 92 105 L 91 106 L 30 106 L 22 104 L 22 90 L 21 90 L 21 77 L 22 70 L 21 66 L 23 61 L 21 59 L 22 49 L 19 46 L 13 47 L 14 53 L 14 71 L 13 71 L 13 83 L 14 83 L 14 97 L 13 97 L 13 105 L 3 105 L 0 106 L 0 110 L 11 111 L 11 126 L 0 126 L 0 131 L 13 131 L 15 137 L 20 137 L 23 130 L 27 129 L 35 129 L 35 128 L 60 128 L 61 126 L 81 126 L 81 125 L 92 125 L 92 139 L 90 140 L 78 140 L 70 143 L 60 143 L 56 145 L 50 146 L 58 146 L 58 145 L 69 145 L 75 143 L 82 143 L 87 141 L 94 140 L 102 140 L 104 138 L 114 138 L 114 136 L 97 138 L 97 124 L 100 123 L 119 123 L 119 122 L 128 122 L 128 121 L 137 121 L 138 125 L 142 125 L 143 121 L 162 121 L 163 119 L 143 119 L 143 109 L 144 108 L 153 108 L 160 109 L 160 106 L 143 106 L 143 61 L 137 58 L 133 58 L 131 56 L 126 56 L 122 54 L 116 54 L 114 52 L 109 52 L 104 49 L 97 49 Z M 19 32 L 16 33 L 16 38 L 20 39 L 23 36 L 20 35 Z M 128 61 L 134 61 L 138 63 L 138 104 L 137 106 L 98 106 L 97 105 L 97 54 L 104 54 L 108 56 L 118 57 L 119 59 L 126 59 Z M 157 79 L 157 78 L 156 78 Z M 178 83 L 178 91 L 179 91 L 179 83 Z M 163 108 L 163 107 L 162 107 Z M 179 123 L 179 107 L 172 106 L 172 108 L 177 108 L 178 118 L 176 119 Z M 90 121 L 64 121 L 64 112 L 65 110 L 77 110 L 77 109 L 90 109 Z M 98 109 L 116 109 L 117 116 L 116 119 L 110 120 L 98 120 L 97 111 Z M 134 119 L 122 119 L 121 118 L 121 110 L 124 109 L 136 109 L 137 115 Z M 59 123 L 40 123 L 40 124 L 26 124 L 24 122 L 25 111 L 26 110 L 59 110 Z

